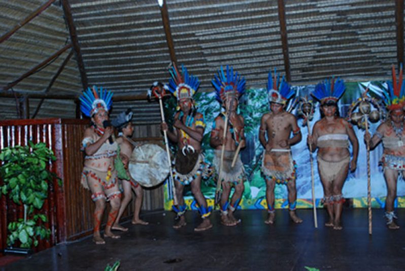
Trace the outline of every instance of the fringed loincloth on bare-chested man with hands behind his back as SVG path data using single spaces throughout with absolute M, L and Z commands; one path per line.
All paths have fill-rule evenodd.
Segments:
M 287 184 L 296 179 L 296 164 L 292 159 L 291 151 L 287 149 L 272 149 L 263 151 L 261 173 L 266 181 L 276 181 L 278 184 Z

